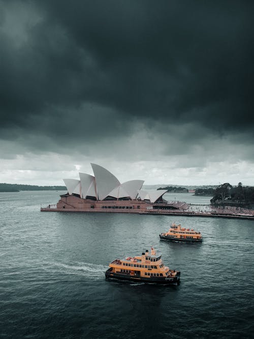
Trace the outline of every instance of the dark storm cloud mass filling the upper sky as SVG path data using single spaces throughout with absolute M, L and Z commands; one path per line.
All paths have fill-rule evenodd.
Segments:
M 251 2 L 0 4 L 2 138 L 94 142 L 137 121 L 253 136 Z

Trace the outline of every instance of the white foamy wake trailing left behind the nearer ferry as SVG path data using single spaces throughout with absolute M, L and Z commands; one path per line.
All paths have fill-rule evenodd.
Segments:
M 51 265 L 57 267 L 60 271 L 65 274 L 75 274 L 75 275 L 83 275 L 88 279 L 99 280 L 105 278 L 105 271 L 107 270 L 107 266 L 104 265 L 96 265 L 90 264 L 86 262 L 78 262 L 74 265 L 71 264 L 63 264 L 63 263 L 51 263 Z

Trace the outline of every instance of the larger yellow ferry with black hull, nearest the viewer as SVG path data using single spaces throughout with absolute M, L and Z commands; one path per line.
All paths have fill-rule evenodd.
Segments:
M 175 284 L 180 283 L 180 272 L 164 266 L 162 254 L 151 248 L 141 256 L 116 259 L 109 264 L 106 278 L 134 282 Z

